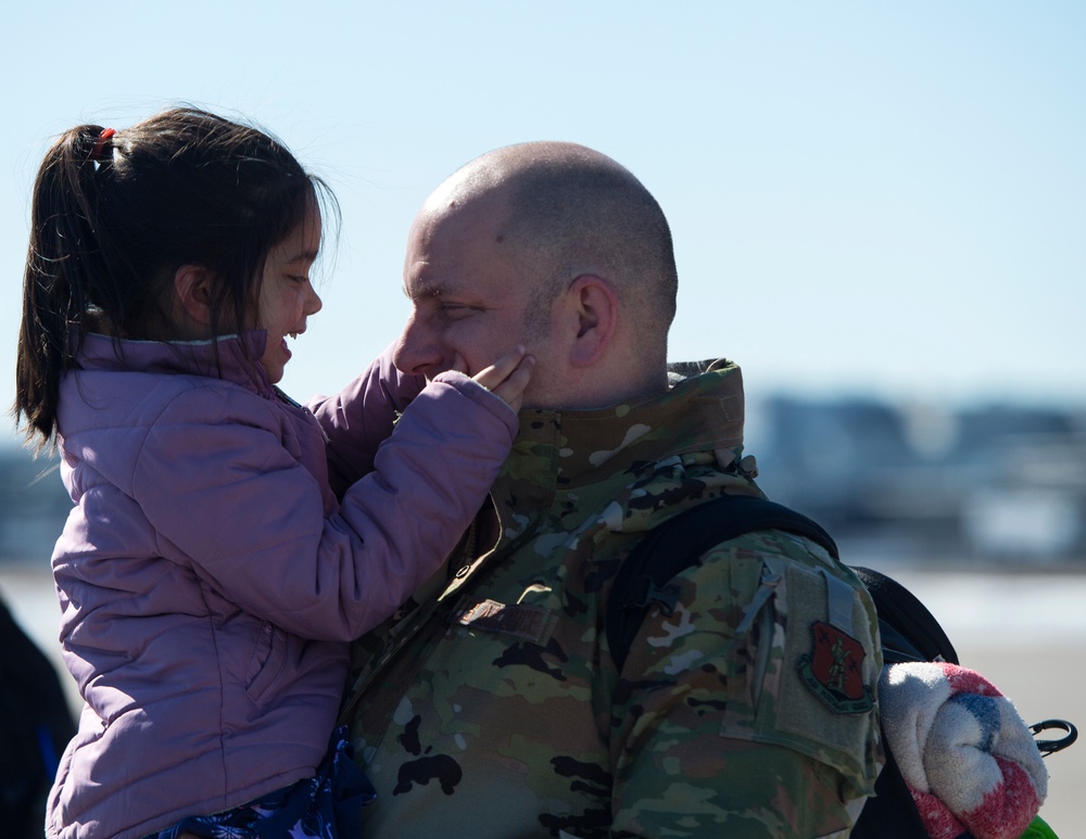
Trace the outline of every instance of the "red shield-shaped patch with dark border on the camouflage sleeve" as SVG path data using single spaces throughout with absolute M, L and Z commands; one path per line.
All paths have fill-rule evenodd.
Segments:
M 811 624 L 811 651 L 796 662 L 799 675 L 835 714 L 861 714 L 874 705 L 874 695 L 863 684 L 863 646 L 823 621 Z

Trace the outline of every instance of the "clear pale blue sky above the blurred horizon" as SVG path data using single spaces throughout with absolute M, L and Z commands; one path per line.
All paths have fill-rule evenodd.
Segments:
M 342 236 L 285 386 L 399 332 L 418 205 L 467 160 L 561 139 L 674 233 L 671 356 L 778 389 L 1086 405 L 1081 2 L 18 3 L 0 31 L 0 401 L 30 185 L 58 132 L 187 101 L 268 127 Z

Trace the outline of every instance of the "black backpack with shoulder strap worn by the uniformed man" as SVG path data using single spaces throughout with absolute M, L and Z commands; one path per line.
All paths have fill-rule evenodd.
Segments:
M 679 596 L 671 579 L 710 548 L 729 539 L 762 530 L 780 530 L 806 536 L 839 559 L 833 538 L 817 522 L 773 501 L 752 496 L 724 495 L 693 507 L 654 529 L 622 562 L 611 588 L 604 618 L 607 641 L 621 669 L 630 645 L 648 608 L 671 614 Z M 880 571 L 853 565 L 871 594 L 879 614 L 879 632 L 885 665 L 906 661 L 947 661 L 958 664 L 958 653 L 939 622 L 905 586 Z M 1049 720 L 1033 726 L 1034 733 L 1062 728 L 1062 740 L 1040 740 L 1044 753 L 1074 742 L 1074 726 Z M 886 765 L 875 781 L 853 828 L 854 839 L 926 839 L 927 831 L 909 788 L 883 740 Z

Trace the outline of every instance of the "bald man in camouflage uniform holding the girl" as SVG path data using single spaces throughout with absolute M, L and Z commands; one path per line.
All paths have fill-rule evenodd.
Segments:
M 356 645 L 345 719 L 378 791 L 367 836 L 847 836 L 871 793 L 874 609 L 815 543 L 718 545 L 621 668 L 608 647 L 611 582 L 647 532 L 761 496 L 738 368 L 669 372 L 677 287 L 657 202 L 580 145 L 485 154 L 419 211 L 395 366 L 473 373 L 523 343 L 535 370 L 490 504 Z M 816 627 L 833 598 L 850 634 L 831 647 Z M 804 670 L 817 656 L 824 684 Z

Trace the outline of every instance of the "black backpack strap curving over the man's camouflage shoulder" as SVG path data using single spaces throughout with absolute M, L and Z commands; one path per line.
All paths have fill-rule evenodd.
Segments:
M 817 522 L 787 507 L 748 495 L 722 495 L 654 527 L 623 560 L 611 587 L 604 622 L 619 670 L 651 606 L 665 614 L 679 589 L 670 581 L 708 550 L 746 533 L 781 530 L 806 536 L 837 558 L 833 538 Z

